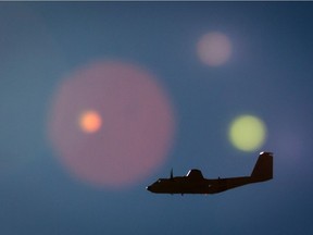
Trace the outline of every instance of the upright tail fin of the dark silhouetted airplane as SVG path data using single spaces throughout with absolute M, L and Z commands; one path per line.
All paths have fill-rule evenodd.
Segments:
M 272 152 L 260 152 L 259 159 L 252 171 L 251 178 L 255 182 L 263 182 L 273 178 Z

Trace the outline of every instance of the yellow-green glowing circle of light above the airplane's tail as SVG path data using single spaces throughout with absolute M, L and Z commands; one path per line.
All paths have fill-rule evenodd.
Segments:
M 266 138 L 266 126 L 262 120 L 253 115 L 236 118 L 229 127 L 230 143 L 242 151 L 259 149 Z

